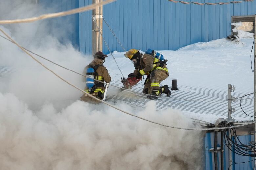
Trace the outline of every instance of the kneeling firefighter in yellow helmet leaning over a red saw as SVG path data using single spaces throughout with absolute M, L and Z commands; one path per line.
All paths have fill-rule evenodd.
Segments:
M 153 51 L 154 53 L 154 51 Z M 171 95 L 168 85 L 160 87 L 161 81 L 165 80 L 169 76 L 168 69 L 166 67 L 166 60 L 161 61 L 154 54 L 141 54 L 139 50 L 131 49 L 125 55 L 129 58 L 135 70 L 129 74 L 128 77 L 141 78 L 143 75 L 147 75 L 144 83 L 143 93 L 150 94 L 148 98 L 157 99 L 157 96 L 165 93 L 168 97 Z

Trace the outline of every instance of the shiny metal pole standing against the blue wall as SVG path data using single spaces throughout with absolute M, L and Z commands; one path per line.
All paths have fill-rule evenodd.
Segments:
M 92 0 L 92 3 L 99 3 L 102 0 Z M 103 7 L 97 7 L 92 11 L 92 54 L 94 55 L 97 51 L 102 51 L 102 18 L 103 18 Z M 97 26 L 98 25 L 98 26 Z

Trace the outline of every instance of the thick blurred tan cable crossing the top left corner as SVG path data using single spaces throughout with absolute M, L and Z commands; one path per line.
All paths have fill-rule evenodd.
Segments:
M 102 2 L 99 2 L 99 3 L 95 3 L 95 4 L 85 6 L 85 7 L 75 8 L 75 9 L 72 9 L 72 10 L 57 12 L 57 13 L 43 14 L 43 15 L 40 15 L 38 17 L 15 19 L 15 20 L 0 20 L 0 24 L 30 23 L 30 22 L 34 22 L 34 21 L 38 21 L 38 20 L 47 19 L 47 18 L 63 17 L 63 16 L 66 16 L 66 15 L 71 15 L 71 14 L 76 14 L 76 13 L 80 13 L 80 12 L 89 11 L 89 10 L 95 9 L 99 6 L 103 6 L 105 4 L 111 3 L 113 1 L 116 1 L 116 0 L 105 0 L 105 1 L 102 1 Z

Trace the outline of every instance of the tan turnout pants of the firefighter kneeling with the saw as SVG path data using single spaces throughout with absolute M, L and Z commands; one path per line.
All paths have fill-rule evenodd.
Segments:
M 152 91 L 158 91 L 160 89 L 160 83 L 168 76 L 169 74 L 165 70 L 153 70 L 142 92 L 146 94 L 151 94 Z

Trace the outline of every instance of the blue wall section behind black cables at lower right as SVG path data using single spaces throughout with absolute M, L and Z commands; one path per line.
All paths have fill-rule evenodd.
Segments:
M 253 135 L 241 135 L 241 136 L 238 136 L 238 138 L 245 145 L 249 145 L 250 141 L 254 141 Z M 220 132 L 218 132 L 218 147 L 220 147 L 220 143 L 221 143 L 220 139 L 221 139 L 221 135 L 220 135 Z M 215 169 L 214 152 L 210 152 L 209 151 L 210 148 L 214 148 L 214 133 L 206 133 L 205 135 L 205 170 Z M 254 159 L 255 159 L 254 157 L 241 156 L 241 155 L 234 154 L 234 152 L 232 152 L 232 160 L 236 163 L 247 162 Z M 221 169 L 220 164 L 221 164 L 220 151 L 218 151 L 218 169 Z M 228 147 L 225 145 L 225 142 L 224 142 L 224 170 L 228 170 L 228 166 L 229 166 L 228 165 Z M 254 161 L 232 165 L 232 170 L 253 170 L 253 168 L 254 168 Z

